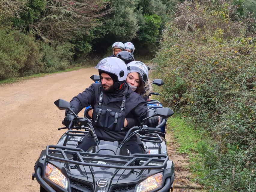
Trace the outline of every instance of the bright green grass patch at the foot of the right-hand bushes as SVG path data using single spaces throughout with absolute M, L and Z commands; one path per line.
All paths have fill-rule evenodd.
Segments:
M 204 177 L 203 160 L 198 152 L 198 147 L 205 142 L 201 139 L 200 133 L 194 130 L 193 125 L 188 125 L 186 119 L 181 116 L 172 116 L 168 119 L 167 129 L 173 133 L 179 145 L 177 152 L 188 155 L 189 169 L 196 180 Z M 197 180 L 197 182 L 200 182 Z M 201 182 L 200 182 L 201 183 Z

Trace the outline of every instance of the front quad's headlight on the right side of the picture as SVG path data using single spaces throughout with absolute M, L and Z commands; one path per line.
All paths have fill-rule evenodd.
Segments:
M 145 179 L 139 184 L 136 192 L 147 192 L 155 189 L 162 184 L 163 173 L 157 173 Z

